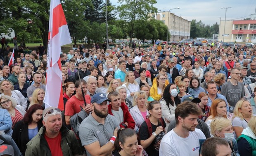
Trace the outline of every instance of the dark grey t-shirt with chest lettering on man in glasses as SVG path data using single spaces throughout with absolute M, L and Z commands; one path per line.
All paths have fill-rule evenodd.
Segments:
M 222 87 L 220 94 L 225 96 L 230 106 L 235 107 L 237 101 L 244 97 L 244 84 L 237 83 L 237 85 L 232 85 L 230 81 L 225 82 Z

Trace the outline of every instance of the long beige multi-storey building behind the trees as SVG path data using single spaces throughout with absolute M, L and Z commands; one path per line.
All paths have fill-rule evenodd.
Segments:
M 153 15 L 152 17 L 156 20 L 162 21 L 165 25 L 167 25 L 171 34 L 168 36 L 169 41 L 190 39 L 190 21 L 168 11 L 157 12 L 157 14 Z

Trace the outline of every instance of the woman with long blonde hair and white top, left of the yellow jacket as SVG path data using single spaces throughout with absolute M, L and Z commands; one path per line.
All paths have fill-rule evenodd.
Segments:
M 140 90 L 140 87 L 137 84 L 137 82 L 135 81 L 135 76 L 132 71 L 126 72 L 126 78 L 125 78 L 122 86 L 125 86 L 127 89 L 127 98 L 130 101 L 133 101 L 133 95 L 135 94 L 135 92 Z

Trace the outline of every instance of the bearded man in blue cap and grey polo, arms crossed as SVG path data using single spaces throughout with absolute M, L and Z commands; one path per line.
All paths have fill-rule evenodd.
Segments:
M 120 127 L 117 119 L 108 115 L 107 101 L 110 100 L 105 94 L 94 94 L 91 99 L 92 112 L 79 127 L 79 137 L 87 156 L 111 154 L 114 149 L 113 142 Z

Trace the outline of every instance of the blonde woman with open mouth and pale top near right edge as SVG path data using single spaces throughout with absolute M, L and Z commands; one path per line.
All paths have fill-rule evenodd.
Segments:
M 247 100 L 239 100 L 234 108 L 232 125 L 234 126 L 235 136 L 238 138 L 242 131 L 248 127 L 248 122 L 253 117 L 251 103 Z

